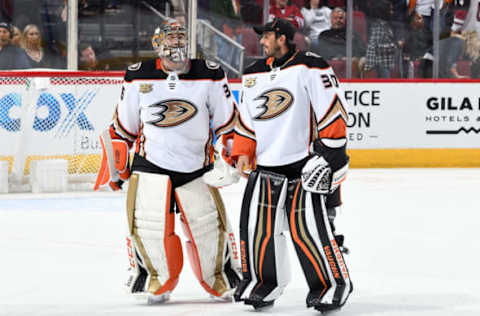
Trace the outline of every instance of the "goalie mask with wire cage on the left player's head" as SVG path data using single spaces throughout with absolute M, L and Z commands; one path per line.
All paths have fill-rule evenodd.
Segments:
M 160 58 L 182 64 L 187 60 L 187 30 L 176 20 L 162 23 L 155 29 L 152 46 Z

